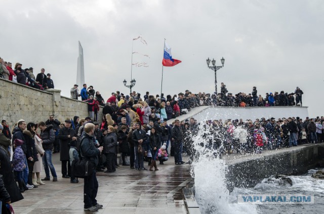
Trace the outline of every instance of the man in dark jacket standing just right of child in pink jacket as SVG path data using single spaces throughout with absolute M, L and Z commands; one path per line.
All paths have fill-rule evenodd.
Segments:
M 181 164 L 181 144 L 183 142 L 183 133 L 180 129 L 180 121 L 174 121 L 174 127 L 172 128 L 172 139 L 174 142 L 174 161 L 176 165 Z

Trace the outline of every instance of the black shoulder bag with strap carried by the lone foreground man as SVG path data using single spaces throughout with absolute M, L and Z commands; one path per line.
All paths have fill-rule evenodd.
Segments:
M 89 159 L 83 159 L 80 154 L 83 139 L 80 142 L 79 159 L 74 159 L 71 164 L 71 173 L 75 178 L 87 178 L 95 171 L 95 165 Z

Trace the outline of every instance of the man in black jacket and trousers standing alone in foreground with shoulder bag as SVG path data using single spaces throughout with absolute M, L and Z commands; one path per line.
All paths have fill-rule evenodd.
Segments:
M 80 155 L 92 162 L 95 168 L 98 165 L 98 155 L 103 150 L 103 147 L 100 146 L 99 148 L 95 147 L 94 144 L 94 134 L 95 126 L 92 123 L 87 123 L 84 127 L 84 136 L 80 141 Z M 84 184 L 84 210 L 85 211 L 97 211 L 98 209 L 102 208 L 103 206 L 97 203 L 96 197 L 98 193 L 98 180 L 96 176 L 96 170 L 92 175 L 85 178 Z

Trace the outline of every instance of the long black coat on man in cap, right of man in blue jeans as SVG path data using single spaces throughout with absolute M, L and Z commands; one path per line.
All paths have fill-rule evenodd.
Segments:
M 68 137 L 70 135 L 70 137 Z M 72 137 L 78 138 L 74 129 L 63 127 L 59 130 L 58 139 L 60 140 L 60 161 L 68 161 L 70 159 L 69 150 Z

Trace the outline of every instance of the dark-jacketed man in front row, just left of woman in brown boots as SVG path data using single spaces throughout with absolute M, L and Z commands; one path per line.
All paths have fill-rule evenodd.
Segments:
M 139 170 L 147 170 L 144 168 L 144 149 L 142 149 L 142 152 L 138 152 L 139 145 L 143 145 L 143 142 L 147 139 L 145 130 L 142 129 L 141 123 L 136 124 L 136 130 L 133 131 L 132 134 L 132 141 L 134 143 L 134 152 L 135 152 L 135 169 L 137 171 Z M 138 164 L 140 162 L 140 164 Z

